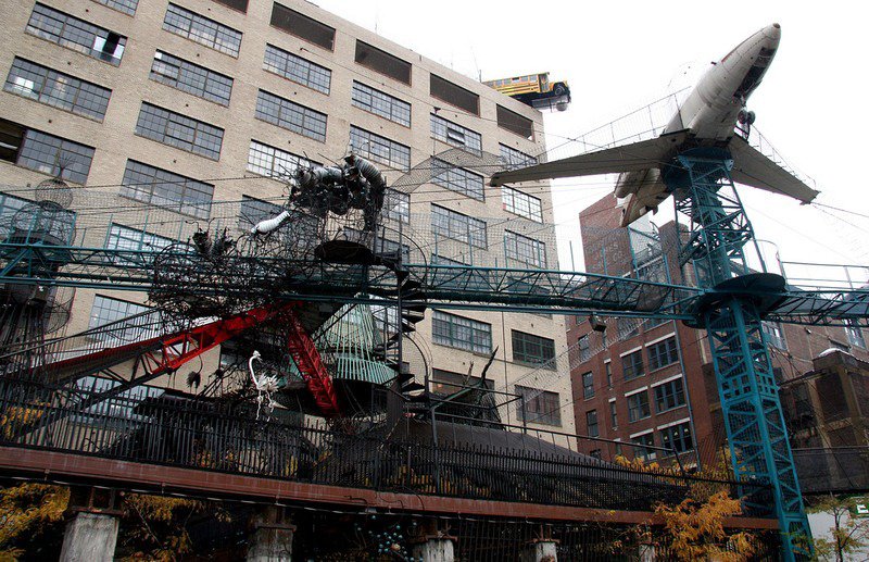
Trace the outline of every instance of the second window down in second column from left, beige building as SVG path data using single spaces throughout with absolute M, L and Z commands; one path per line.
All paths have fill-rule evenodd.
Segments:
M 154 52 L 151 79 L 187 93 L 229 105 L 232 78 L 163 51 Z

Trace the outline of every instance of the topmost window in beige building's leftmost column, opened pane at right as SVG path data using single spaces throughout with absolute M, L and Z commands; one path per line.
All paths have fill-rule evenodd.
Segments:
M 27 33 L 114 65 L 121 64 L 127 43 L 124 36 L 39 3 L 27 22 Z

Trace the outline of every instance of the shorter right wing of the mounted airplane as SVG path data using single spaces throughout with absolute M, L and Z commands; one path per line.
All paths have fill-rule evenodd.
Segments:
M 818 195 L 818 191 L 771 161 L 742 137 L 734 136 L 731 139 L 730 153 L 733 155 L 733 170 L 730 173 L 733 182 L 786 195 L 804 203 L 810 202 Z

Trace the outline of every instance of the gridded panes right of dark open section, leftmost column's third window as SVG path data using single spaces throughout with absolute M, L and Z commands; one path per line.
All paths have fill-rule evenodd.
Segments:
M 84 184 L 93 160 L 91 147 L 73 142 L 39 130 L 24 133 L 16 164 L 36 172 Z

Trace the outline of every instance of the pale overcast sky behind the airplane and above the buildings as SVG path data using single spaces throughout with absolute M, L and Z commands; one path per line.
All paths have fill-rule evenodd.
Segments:
M 696 75 L 778 22 L 779 51 L 748 100 L 755 125 L 790 164 L 816 180 L 818 202 L 869 215 L 869 180 L 861 166 L 869 162 L 869 3 L 315 3 L 475 78 L 549 71 L 551 78 L 568 80 L 570 109 L 545 114 L 551 147 L 672 91 L 684 84 L 687 70 Z M 569 267 L 568 239 L 579 260 L 577 214 L 612 188 L 604 177 L 554 184 L 563 268 Z M 751 188 L 740 195 L 758 238 L 773 240 L 783 259 L 869 264 L 869 218 L 801 207 Z

